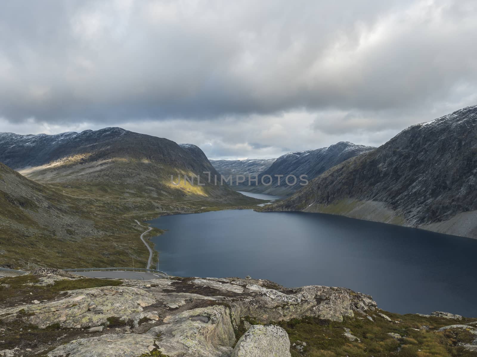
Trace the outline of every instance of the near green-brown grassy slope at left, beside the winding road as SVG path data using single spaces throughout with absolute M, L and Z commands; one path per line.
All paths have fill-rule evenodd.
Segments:
M 0 267 L 144 265 L 144 228 L 118 215 L 123 204 L 64 194 L 0 163 Z M 156 232 L 157 234 L 157 232 Z

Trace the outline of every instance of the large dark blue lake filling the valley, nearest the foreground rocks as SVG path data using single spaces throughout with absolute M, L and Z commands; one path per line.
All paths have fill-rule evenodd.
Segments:
M 303 212 L 223 210 L 156 218 L 171 275 L 270 279 L 373 296 L 397 313 L 477 317 L 477 239 Z

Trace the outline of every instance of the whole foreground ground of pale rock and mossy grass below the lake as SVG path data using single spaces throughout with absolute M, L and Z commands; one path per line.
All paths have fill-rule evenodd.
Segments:
M 474 356 L 477 319 L 397 315 L 347 288 L 269 280 L 0 279 L 0 356 Z

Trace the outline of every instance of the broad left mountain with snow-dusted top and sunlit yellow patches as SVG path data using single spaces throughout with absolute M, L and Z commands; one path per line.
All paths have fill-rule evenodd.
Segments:
M 0 161 L 37 182 L 98 195 L 166 201 L 243 199 L 227 186 L 184 182 L 183 175 L 218 175 L 197 146 L 179 146 L 121 128 L 58 135 L 0 133 Z M 182 176 L 179 185 L 172 183 L 171 175 L 176 183 Z

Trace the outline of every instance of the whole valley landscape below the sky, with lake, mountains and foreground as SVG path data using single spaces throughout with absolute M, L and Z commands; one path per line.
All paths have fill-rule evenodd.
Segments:
M 233 356 L 248 333 L 272 329 L 287 357 L 473 356 L 476 110 L 379 148 L 339 142 L 276 160 L 210 161 L 195 145 L 121 128 L 0 133 L 10 166 L 0 164 L 0 265 L 29 272 L 0 278 L 0 347 L 85 357 L 113 338 L 112 356 L 194 356 L 181 342 L 190 336 L 204 356 Z M 314 178 L 302 188 L 171 180 L 204 172 Z M 55 269 L 157 263 L 169 277 Z

